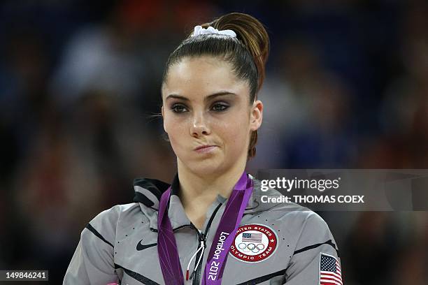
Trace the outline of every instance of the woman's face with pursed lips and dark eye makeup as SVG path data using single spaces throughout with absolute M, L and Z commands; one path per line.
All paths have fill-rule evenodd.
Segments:
M 249 90 L 222 59 L 186 57 L 170 66 L 162 117 L 179 167 L 210 175 L 245 165 L 263 110 L 260 101 L 250 104 Z

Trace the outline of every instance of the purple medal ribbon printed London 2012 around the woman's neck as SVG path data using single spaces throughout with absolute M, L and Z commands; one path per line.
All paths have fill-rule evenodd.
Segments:
M 226 208 L 215 232 L 204 270 L 203 285 L 220 285 L 222 283 L 224 265 L 227 261 L 229 249 L 234 241 L 251 193 L 252 180 L 244 171 L 235 184 L 229 200 L 227 200 Z M 183 285 L 183 270 L 178 257 L 176 238 L 166 211 L 170 195 L 171 186 L 162 194 L 159 203 L 157 251 L 165 284 Z

